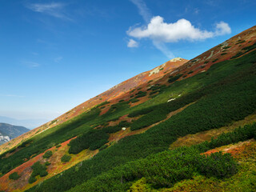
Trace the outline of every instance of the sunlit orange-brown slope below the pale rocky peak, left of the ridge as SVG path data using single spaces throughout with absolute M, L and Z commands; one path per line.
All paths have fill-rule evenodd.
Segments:
M 51 127 L 57 126 L 62 122 L 66 122 L 69 119 L 84 113 L 86 110 L 90 110 L 90 108 L 95 105 L 106 101 L 113 103 L 117 102 L 118 99 L 122 99 L 122 97 L 126 96 L 126 94 L 129 94 L 130 90 L 133 90 L 138 86 L 143 86 L 149 81 L 158 81 L 158 79 L 162 78 L 164 74 L 170 73 L 178 66 L 182 66 L 185 62 L 187 62 L 186 59 L 174 58 L 166 63 L 163 63 L 161 66 L 155 67 L 153 70 L 146 71 L 142 74 L 138 74 L 134 78 L 126 80 L 125 82 L 121 82 L 117 86 L 112 87 L 110 90 L 106 90 L 106 92 L 99 94 L 86 102 L 83 102 L 79 106 L 74 107 L 74 109 L 66 112 L 66 114 L 62 114 L 60 117 L 55 118 L 53 121 L 39 126 L 34 130 L 30 130 L 30 132 L 22 135 L 22 137 L 13 139 L 10 143 L 2 146 L 2 148 L 0 149 L 0 154 L 5 152 L 6 150 L 10 150 L 12 147 L 18 145 L 18 143 L 24 142 L 27 138 L 30 138 L 35 134 L 40 134 L 43 131 L 50 129 Z

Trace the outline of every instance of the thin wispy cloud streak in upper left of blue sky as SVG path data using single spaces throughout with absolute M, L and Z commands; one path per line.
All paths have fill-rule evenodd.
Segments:
M 62 18 L 66 20 L 72 20 L 65 13 L 66 4 L 61 2 L 50 2 L 50 3 L 32 3 L 26 5 L 26 7 L 34 12 L 38 12 L 41 14 L 48 14 L 53 16 L 54 18 Z

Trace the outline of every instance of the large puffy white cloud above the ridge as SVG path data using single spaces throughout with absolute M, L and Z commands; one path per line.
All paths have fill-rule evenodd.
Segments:
M 150 38 L 154 42 L 178 42 L 180 40 L 202 40 L 214 36 L 230 34 L 230 26 L 226 22 L 219 22 L 215 31 L 200 30 L 182 18 L 174 23 L 167 23 L 156 16 L 147 26 L 130 27 L 127 34 L 134 38 Z

